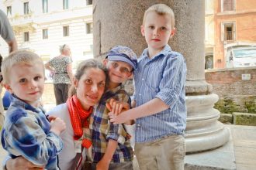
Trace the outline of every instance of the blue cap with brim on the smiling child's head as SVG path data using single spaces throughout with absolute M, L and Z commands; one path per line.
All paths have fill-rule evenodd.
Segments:
M 114 46 L 109 50 L 106 59 L 110 61 L 123 61 L 129 63 L 133 70 L 137 69 L 137 56 L 132 49 L 126 46 Z

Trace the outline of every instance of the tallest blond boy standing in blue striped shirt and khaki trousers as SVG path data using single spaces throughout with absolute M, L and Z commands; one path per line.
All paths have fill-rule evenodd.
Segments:
M 186 65 L 183 56 L 168 46 L 175 35 L 175 15 L 167 5 L 153 5 L 140 29 L 148 47 L 133 73 L 137 107 L 109 117 L 115 124 L 136 119 L 140 170 L 184 169 Z

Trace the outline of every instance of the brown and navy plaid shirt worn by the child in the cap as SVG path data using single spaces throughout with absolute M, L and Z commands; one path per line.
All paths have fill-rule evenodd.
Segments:
M 123 124 L 112 124 L 109 121 L 109 110 L 106 108 L 106 102 L 112 97 L 130 104 L 130 97 L 123 89 L 123 86 L 116 87 L 113 90 L 106 90 L 106 93 L 103 94 L 99 105 L 92 114 L 93 122 L 90 123 L 93 162 L 99 162 L 102 159 L 106 153 L 109 139 L 118 141 L 112 162 L 130 162 L 133 160 L 133 149 L 130 146 L 130 140 L 126 138 Z

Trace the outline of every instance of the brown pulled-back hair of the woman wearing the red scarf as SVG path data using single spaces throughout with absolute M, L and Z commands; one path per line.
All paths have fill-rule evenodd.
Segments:
M 108 73 L 106 67 L 103 66 L 103 64 L 97 61 L 96 59 L 86 59 L 85 61 L 79 63 L 78 69 L 74 74 L 74 78 L 79 81 L 81 79 L 81 76 L 83 76 L 86 73 L 86 70 L 91 68 L 102 70 L 106 75 L 106 81 L 108 80 Z M 74 83 L 72 83 L 71 87 L 68 90 L 68 97 L 72 97 L 74 94 L 76 94 L 76 90 L 74 87 Z

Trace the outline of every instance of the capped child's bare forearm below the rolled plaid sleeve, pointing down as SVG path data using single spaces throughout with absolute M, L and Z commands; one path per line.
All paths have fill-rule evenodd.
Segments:
M 96 165 L 97 170 L 109 169 L 109 163 L 111 162 L 112 157 L 116 151 L 116 147 L 117 147 L 117 141 L 109 139 L 108 146 L 106 148 L 106 152 L 105 152 L 103 158 Z

